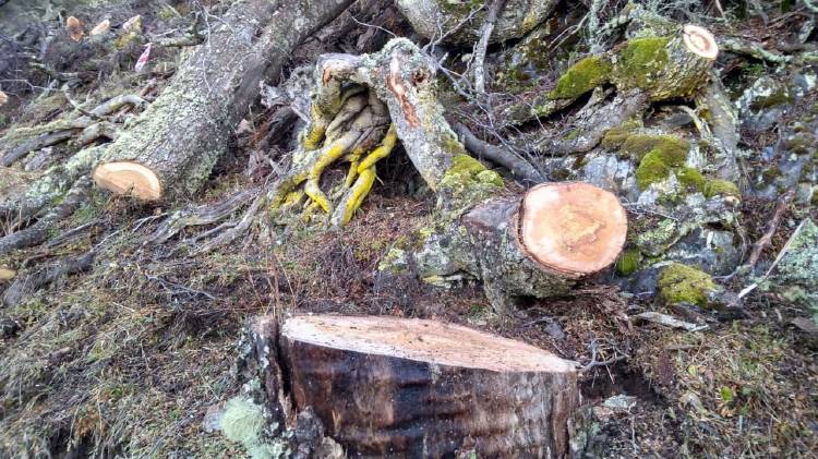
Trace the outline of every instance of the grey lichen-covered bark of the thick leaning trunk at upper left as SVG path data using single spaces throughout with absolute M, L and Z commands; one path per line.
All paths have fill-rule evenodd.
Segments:
M 349 3 L 237 3 L 101 162 L 143 164 L 157 173 L 166 198 L 196 191 L 257 95 L 260 78 L 277 74 L 299 43 Z

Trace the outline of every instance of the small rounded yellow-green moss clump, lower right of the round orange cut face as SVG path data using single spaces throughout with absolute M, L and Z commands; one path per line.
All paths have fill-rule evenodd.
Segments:
M 717 287 L 707 273 L 681 263 L 673 263 L 659 275 L 657 290 L 664 304 L 690 303 L 706 306 L 708 297 L 717 290 Z

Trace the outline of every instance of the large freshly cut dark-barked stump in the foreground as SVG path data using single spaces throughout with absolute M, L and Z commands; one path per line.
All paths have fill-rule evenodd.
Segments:
M 269 321 L 257 319 L 255 333 L 275 329 Z M 254 341 L 280 369 L 266 378 L 284 375 L 284 384 L 265 382 L 288 388 L 290 400 L 279 403 L 311 408 L 350 457 L 567 452 L 577 372 L 544 350 L 457 325 L 374 316 L 297 316 L 277 340 Z

